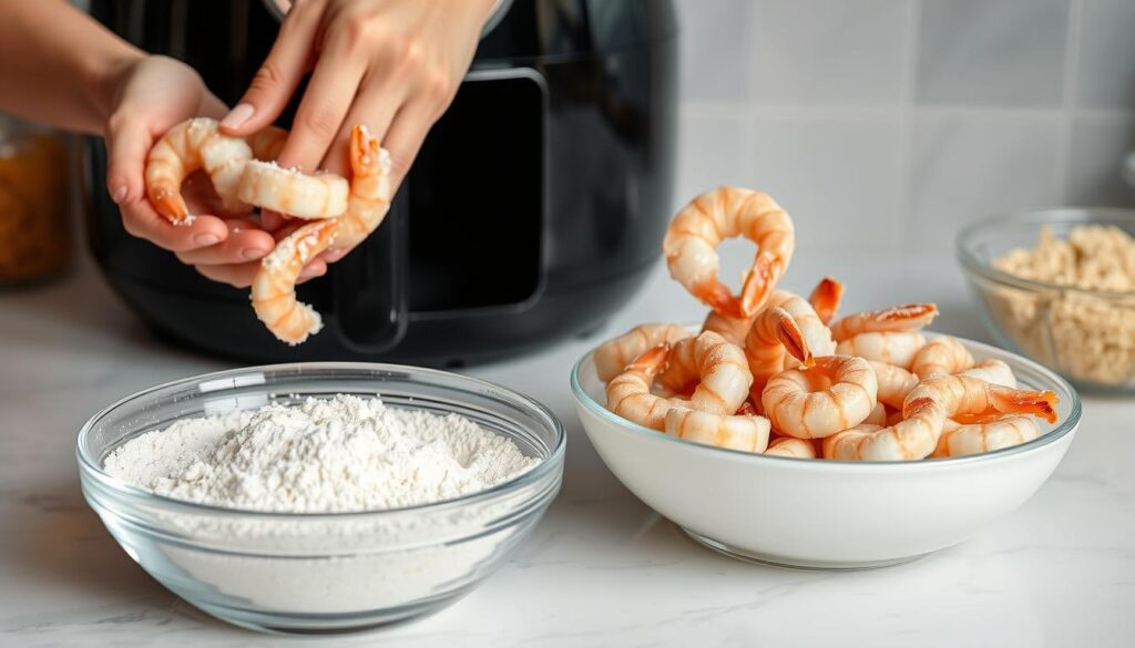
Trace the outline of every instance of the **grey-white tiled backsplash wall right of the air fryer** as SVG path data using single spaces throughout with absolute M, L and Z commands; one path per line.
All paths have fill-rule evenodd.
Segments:
M 800 244 L 950 253 L 983 216 L 1135 205 L 1135 0 L 679 0 L 675 208 L 768 191 Z M 743 246 L 742 246 L 743 247 Z

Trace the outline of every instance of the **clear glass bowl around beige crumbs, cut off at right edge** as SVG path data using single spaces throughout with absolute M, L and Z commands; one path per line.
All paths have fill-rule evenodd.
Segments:
M 958 261 L 982 319 L 999 344 L 1054 369 L 1081 389 L 1135 392 L 1135 293 L 1084 291 L 993 268 L 992 261 L 1010 250 L 1034 247 L 1045 225 L 1060 238 L 1079 225 L 1115 225 L 1135 235 L 1135 210 L 1012 213 L 962 229 Z

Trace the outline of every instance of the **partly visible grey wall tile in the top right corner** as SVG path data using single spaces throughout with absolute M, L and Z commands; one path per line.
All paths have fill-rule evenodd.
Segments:
M 1135 108 L 1135 0 L 1083 0 L 1077 103 Z

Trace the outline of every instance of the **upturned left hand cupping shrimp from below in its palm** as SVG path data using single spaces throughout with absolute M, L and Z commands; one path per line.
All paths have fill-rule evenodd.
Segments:
M 261 256 L 276 245 L 272 234 L 247 218 L 226 218 L 208 176 L 191 176 L 182 187 L 191 225 L 175 226 L 154 211 L 143 175 L 150 148 L 166 131 L 191 117 L 222 117 L 226 107 L 191 67 L 166 57 L 143 57 L 116 76 L 114 109 L 107 120 L 107 186 L 123 212 L 123 226 L 177 254 L 183 263 L 216 281 L 247 286 Z M 208 216 L 218 214 L 218 216 Z M 316 260 L 304 278 L 322 275 Z

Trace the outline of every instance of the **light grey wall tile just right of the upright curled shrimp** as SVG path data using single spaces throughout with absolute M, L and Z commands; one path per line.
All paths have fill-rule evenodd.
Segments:
M 883 251 L 898 243 L 894 120 L 756 118 L 751 148 L 749 185 L 788 210 L 800 245 Z

